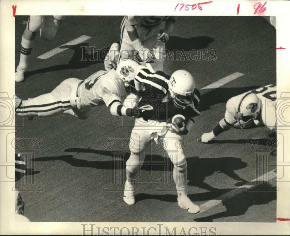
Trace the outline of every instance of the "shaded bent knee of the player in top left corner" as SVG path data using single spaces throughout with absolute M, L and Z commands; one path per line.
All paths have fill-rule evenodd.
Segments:
M 60 21 L 51 17 L 45 16 L 40 28 L 40 38 L 45 41 L 51 41 L 55 38 Z

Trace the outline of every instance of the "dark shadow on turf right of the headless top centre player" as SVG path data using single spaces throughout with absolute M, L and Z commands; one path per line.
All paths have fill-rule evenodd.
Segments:
M 214 39 L 212 37 L 207 36 L 197 36 L 191 38 L 171 36 L 168 42 L 166 42 L 165 47 L 166 49 L 168 49 L 168 51 L 172 51 L 174 49 L 190 51 L 192 49 L 193 50 L 205 49 L 212 42 L 214 42 Z

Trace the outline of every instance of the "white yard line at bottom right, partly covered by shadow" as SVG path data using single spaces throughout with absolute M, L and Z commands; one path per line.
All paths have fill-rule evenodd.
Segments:
M 256 183 L 256 182 L 261 182 L 261 181 L 265 181 L 268 182 L 269 180 L 275 178 L 277 176 L 277 174 L 274 172 L 274 170 L 268 172 L 267 174 L 264 174 L 258 178 L 253 179 L 252 181 L 250 181 L 249 183 Z M 254 187 L 255 185 L 250 185 L 249 183 L 242 185 L 234 190 L 231 190 L 230 192 L 227 192 L 226 194 L 218 197 L 220 198 L 219 200 L 217 199 L 213 199 L 210 201 L 207 201 L 206 203 L 200 205 L 200 213 L 205 212 L 217 205 L 220 205 L 222 202 L 227 201 L 241 193 L 243 193 L 245 191 L 245 189 L 247 189 L 248 187 Z

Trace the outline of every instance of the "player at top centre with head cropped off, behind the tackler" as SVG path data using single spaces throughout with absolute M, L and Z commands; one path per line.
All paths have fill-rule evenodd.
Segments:
M 165 43 L 174 24 L 173 16 L 125 16 L 121 24 L 120 58 L 136 59 L 139 54 L 144 62 L 154 62 L 147 65 L 152 71 L 163 71 Z

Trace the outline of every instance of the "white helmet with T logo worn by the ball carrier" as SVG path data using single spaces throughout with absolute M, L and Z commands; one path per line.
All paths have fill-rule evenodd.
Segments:
M 186 70 L 173 72 L 168 82 L 168 90 L 177 108 L 186 108 L 193 101 L 195 81 L 193 76 Z

